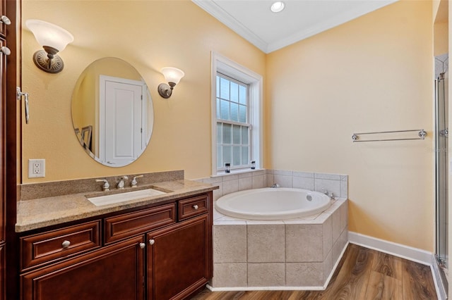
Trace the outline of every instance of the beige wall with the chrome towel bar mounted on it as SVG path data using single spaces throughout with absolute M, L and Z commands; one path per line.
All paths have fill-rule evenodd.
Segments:
M 428 251 L 432 32 L 431 1 L 400 1 L 268 55 L 266 85 L 268 168 L 348 174 L 350 231 Z M 420 128 L 424 141 L 351 139 Z

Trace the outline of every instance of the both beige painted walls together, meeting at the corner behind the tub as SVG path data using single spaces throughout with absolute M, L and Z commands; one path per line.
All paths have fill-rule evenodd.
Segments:
M 174 169 L 208 177 L 218 51 L 265 78 L 264 167 L 348 174 L 350 230 L 432 251 L 432 15 L 431 1 L 400 1 L 266 56 L 190 1 L 23 1 L 24 22 L 47 20 L 75 37 L 61 54 L 65 70 L 51 75 L 33 65 L 39 46 L 23 32 L 23 182 Z M 72 89 L 104 56 L 129 61 L 155 105 L 150 146 L 124 168 L 92 161 L 72 133 Z M 155 91 L 164 66 L 186 73 L 169 100 Z M 417 128 L 429 137 L 351 141 L 353 132 Z M 47 177 L 28 179 L 28 158 L 45 158 Z

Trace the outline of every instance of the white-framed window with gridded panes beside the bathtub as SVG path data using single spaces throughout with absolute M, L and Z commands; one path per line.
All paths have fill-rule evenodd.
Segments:
M 213 54 L 213 174 L 261 167 L 262 77 Z

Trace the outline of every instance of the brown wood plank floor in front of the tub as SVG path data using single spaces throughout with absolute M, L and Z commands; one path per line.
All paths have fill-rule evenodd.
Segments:
M 196 300 L 367 300 L 437 299 L 428 265 L 349 244 L 324 291 L 210 292 Z

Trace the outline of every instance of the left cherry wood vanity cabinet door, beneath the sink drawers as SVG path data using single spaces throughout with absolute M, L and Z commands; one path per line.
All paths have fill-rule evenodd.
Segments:
M 141 244 L 141 245 L 140 245 Z M 143 236 L 20 276 L 23 300 L 143 299 Z

